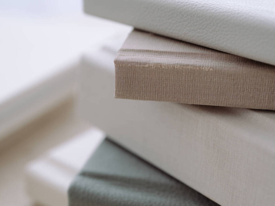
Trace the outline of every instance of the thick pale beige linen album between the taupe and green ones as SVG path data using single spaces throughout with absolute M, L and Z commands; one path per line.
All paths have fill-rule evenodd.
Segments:
M 273 206 L 275 111 L 115 99 L 119 42 L 83 57 L 82 118 L 222 206 Z

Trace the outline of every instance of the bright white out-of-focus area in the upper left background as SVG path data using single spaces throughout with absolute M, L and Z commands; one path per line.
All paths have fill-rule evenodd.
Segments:
M 112 24 L 84 15 L 81 0 L 1 0 L 0 102 L 109 37 Z

